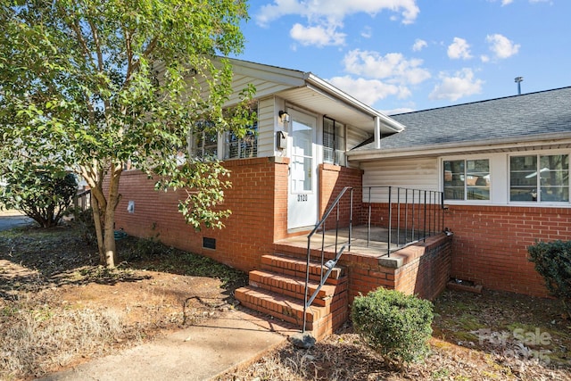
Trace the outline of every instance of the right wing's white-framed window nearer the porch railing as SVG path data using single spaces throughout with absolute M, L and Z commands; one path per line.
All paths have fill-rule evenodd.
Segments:
M 445 200 L 490 200 L 490 161 L 450 160 L 443 162 Z

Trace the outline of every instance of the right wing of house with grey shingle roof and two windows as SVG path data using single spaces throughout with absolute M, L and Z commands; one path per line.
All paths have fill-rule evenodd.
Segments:
M 545 296 L 526 247 L 571 239 L 571 87 L 391 118 L 406 128 L 347 153 L 363 185 L 442 190 L 451 276 Z

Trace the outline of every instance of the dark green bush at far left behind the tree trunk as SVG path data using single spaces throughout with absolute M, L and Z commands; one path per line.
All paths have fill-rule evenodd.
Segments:
M 73 174 L 29 162 L 12 162 L 3 174 L 0 202 L 18 209 L 42 228 L 52 228 L 73 202 L 78 182 Z

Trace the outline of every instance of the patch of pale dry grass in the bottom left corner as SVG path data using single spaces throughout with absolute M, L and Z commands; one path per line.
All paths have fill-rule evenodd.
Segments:
M 6 379 L 42 376 L 77 361 L 77 353 L 102 354 L 126 334 L 117 311 L 62 309 L 48 300 L 49 293 L 42 294 L 4 303 L 0 321 L 9 321 L 10 326 L 3 329 L 0 341 L 0 375 Z

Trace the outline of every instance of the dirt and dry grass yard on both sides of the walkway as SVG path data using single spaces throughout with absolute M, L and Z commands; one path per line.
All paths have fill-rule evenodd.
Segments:
M 246 276 L 153 240 L 118 241 L 95 265 L 78 228 L 0 232 L 0 379 L 40 377 L 240 308 Z M 285 344 L 224 380 L 571 380 L 571 321 L 559 302 L 447 291 L 434 302 L 432 354 L 402 371 L 347 324 L 310 350 Z

